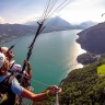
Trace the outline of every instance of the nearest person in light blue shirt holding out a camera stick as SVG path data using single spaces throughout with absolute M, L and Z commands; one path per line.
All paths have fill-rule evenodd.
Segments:
M 8 58 L 4 56 L 4 54 L 0 52 L 0 105 L 16 105 L 16 94 L 32 100 L 33 102 L 42 102 L 49 96 L 55 96 L 55 90 L 58 88 L 57 85 L 51 85 L 47 92 L 39 94 L 34 94 L 21 86 L 16 78 L 8 72 L 9 65 L 10 62 Z M 60 93 L 61 89 L 59 88 L 58 94 Z

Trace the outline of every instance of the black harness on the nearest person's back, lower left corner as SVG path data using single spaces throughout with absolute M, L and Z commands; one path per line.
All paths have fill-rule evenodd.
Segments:
M 10 74 L 0 83 L 0 105 L 14 105 L 15 94 L 11 90 L 13 79 L 14 75 Z

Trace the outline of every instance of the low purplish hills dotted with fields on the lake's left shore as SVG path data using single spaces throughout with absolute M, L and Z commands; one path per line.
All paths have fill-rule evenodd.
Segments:
M 35 34 L 37 27 L 22 24 L 0 24 L 0 44 L 20 36 Z

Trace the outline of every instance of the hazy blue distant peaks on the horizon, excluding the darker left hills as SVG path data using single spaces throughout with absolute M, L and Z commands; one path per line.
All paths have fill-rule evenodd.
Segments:
M 28 21 L 26 23 L 24 23 L 25 25 L 35 25 L 37 26 L 37 22 L 36 21 Z M 46 25 L 47 24 L 47 25 Z M 61 28 L 61 27 L 68 27 L 70 30 L 84 30 L 84 28 L 89 28 L 93 25 L 97 24 L 96 22 L 91 22 L 91 21 L 88 21 L 88 22 L 83 22 L 81 24 L 77 24 L 77 25 L 73 25 L 73 24 L 70 24 L 69 22 L 67 22 L 66 20 L 59 18 L 59 16 L 56 16 L 56 18 L 52 18 L 52 19 L 48 19 L 46 22 L 45 22 L 45 25 L 46 27 L 50 27 L 50 28 Z

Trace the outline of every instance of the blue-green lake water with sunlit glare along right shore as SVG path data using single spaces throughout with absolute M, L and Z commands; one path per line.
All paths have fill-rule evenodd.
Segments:
M 33 80 L 48 85 L 58 85 L 72 69 L 82 67 L 77 62 L 77 57 L 84 51 L 75 43 L 78 32 L 80 31 L 52 32 L 40 34 L 37 37 L 30 59 L 33 69 Z M 14 59 L 18 63 L 23 65 L 33 37 L 34 35 L 23 37 L 13 48 Z M 15 42 L 16 39 L 0 46 L 10 47 Z M 35 81 L 32 81 L 35 92 L 40 92 L 47 88 Z

